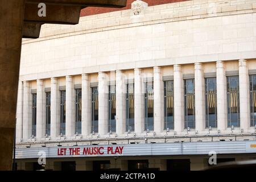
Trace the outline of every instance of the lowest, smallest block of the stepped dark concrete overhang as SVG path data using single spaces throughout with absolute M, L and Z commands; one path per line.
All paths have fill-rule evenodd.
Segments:
M 23 23 L 23 35 L 22 38 L 36 39 L 39 38 L 41 23 Z

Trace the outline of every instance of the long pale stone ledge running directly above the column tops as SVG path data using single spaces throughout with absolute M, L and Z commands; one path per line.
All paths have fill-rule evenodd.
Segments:
M 51 77 L 63 77 L 66 75 L 81 75 L 82 73 L 98 73 L 105 71 L 133 69 L 133 68 L 147 68 L 154 66 L 170 66 L 175 64 L 192 64 L 200 62 L 213 62 L 213 61 L 231 61 L 239 59 L 255 59 L 255 51 L 244 51 L 244 52 L 229 52 L 229 53 L 213 53 L 208 55 L 197 55 L 197 56 L 184 56 L 184 57 L 168 57 L 164 59 L 150 59 L 134 61 L 129 64 L 127 63 L 113 63 L 104 65 L 95 65 L 90 67 L 72 68 L 72 69 L 61 69 L 49 72 L 34 73 L 28 75 L 20 75 L 20 81 L 31 81 L 35 79 L 47 79 Z

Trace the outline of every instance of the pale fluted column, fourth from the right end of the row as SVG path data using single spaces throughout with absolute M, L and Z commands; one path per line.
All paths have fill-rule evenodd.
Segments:
M 184 83 L 181 65 L 174 65 L 174 131 L 184 130 Z

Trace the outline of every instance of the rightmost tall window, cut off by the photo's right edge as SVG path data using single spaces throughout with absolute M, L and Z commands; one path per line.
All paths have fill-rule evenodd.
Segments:
M 256 75 L 250 75 L 250 125 L 256 125 Z

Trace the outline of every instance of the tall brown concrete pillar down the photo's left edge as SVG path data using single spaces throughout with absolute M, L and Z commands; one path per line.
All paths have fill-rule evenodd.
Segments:
M 11 170 L 24 0 L 0 1 L 0 171 Z

